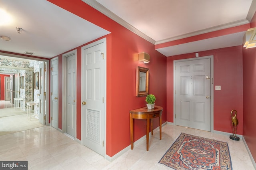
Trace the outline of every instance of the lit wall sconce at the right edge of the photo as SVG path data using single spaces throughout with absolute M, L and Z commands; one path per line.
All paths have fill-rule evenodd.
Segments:
M 256 47 L 256 28 L 249 28 L 243 37 L 243 44 L 246 48 Z

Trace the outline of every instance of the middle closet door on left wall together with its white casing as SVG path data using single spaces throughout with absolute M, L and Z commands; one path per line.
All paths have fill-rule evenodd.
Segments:
M 74 140 L 76 140 L 76 56 L 76 50 L 62 55 L 62 132 Z

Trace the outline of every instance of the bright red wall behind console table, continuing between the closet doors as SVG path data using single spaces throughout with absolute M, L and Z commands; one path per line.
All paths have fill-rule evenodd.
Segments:
M 130 145 L 129 111 L 146 106 L 146 97 L 135 96 L 136 67 L 139 65 L 150 69 L 149 92 L 156 96 L 156 105 L 164 108 L 162 123 L 166 122 L 166 57 L 154 49 L 154 44 L 110 20 L 110 18 L 94 10 L 81 0 L 48 1 L 111 32 L 106 36 L 106 154 L 113 156 Z M 81 47 L 76 49 L 81 50 Z M 138 53 L 142 51 L 150 54 L 150 63 L 144 64 L 138 61 Z M 79 62 L 81 53 L 78 52 L 77 54 L 77 100 L 80 100 L 78 103 L 81 103 L 81 74 L 79 74 L 81 72 L 81 62 Z M 61 64 L 61 59 L 59 61 Z M 62 69 L 59 69 L 59 71 L 61 77 Z M 60 83 L 60 91 L 61 88 Z M 59 104 L 59 118 L 61 120 L 62 106 L 61 103 Z M 159 124 L 155 121 L 154 128 L 158 126 Z M 62 128 L 61 121 L 59 121 L 59 128 Z M 81 139 L 81 105 L 77 105 L 76 128 L 77 138 Z M 145 120 L 135 120 L 135 141 L 145 134 Z

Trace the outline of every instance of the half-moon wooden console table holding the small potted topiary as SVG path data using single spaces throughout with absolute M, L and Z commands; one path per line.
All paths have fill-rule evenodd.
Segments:
M 162 139 L 162 111 L 163 108 L 160 106 L 155 106 L 154 109 L 148 109 L 147 107 L 142 107 L 130 111 L 130 137 L 131 137 L 131 149 L 133 149 L 133 119 L 147 119 L 147 151 L 148 151 L 148 138 L 149 138 L 149 121 L 151 121 L 151 135 L 153 135 L 153 123 L 152 119 L 159 117 L 159 129 L 160 129 L 160 140 Z

